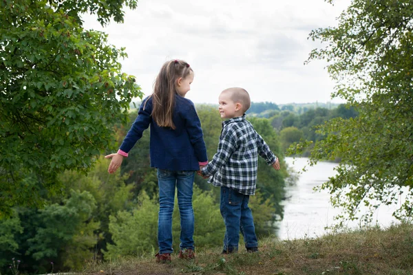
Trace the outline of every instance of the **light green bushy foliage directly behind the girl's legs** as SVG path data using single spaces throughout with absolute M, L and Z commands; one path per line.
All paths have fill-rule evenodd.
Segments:
M 138 197 L 138 207 L 132 212 L 120 211 L 110 217 L 109 230 L 114 245 L 107 245 L 105 259 L 116 259 L 121 255 L 140 255 L 154 252 L 158 247 L 158 197 L 150 198 L 146 192 Z M 177 200 L 176 203 L 177 204 Z M 224 222 L 220 207 L 213 203 L 210 192 L 194 188 L 193 209 L 195 214 L 195 232 L 193 239 L 198 248 L 220 243 L 224 236 Z M 173 247 L 179 250 L 180 219 L 176 206 L 173 210 Z

